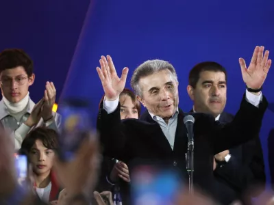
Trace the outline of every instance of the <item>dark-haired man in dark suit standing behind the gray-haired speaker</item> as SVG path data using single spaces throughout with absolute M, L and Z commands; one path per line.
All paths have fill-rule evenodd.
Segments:
M 213 115 L 222 124 L 232 122 L 234 116 L 223 111 L 227 100 L 227 72 L 223 66 L 212 61 L 197 64 L 190 70 L 187 90 L 194 103 L 192 111 Z M 249 193 L 256 196 L 264 190 L 266 176 L 259 137 L 224 150 L 213 160 L 214 194 L 223 204 L 251 204 Z M 254 193 L 257 187 L 260 191 Z

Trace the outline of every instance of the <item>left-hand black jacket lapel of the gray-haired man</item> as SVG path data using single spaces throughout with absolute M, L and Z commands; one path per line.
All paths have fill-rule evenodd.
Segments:
M 171 154 L 172 149 L 169 141 L 166 139 L 166 136 L 162 132 L 160 125 L 151 118 L 151 115 L 149 115 L 148 111 L 145 111 L 145 113 L 142 114 L 140 120 L 146 122 L 143 124 L 143 126 L 145 126 L 143 127 L 143 131 L 146 134 L 145 136 L 149 136 L 148 140 L 155 144 L 155 146 L 158 146 L 158 148 L 160 148 L 165 153 Z

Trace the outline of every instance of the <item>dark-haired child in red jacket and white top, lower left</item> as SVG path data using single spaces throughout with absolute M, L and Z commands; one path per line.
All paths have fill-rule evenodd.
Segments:
M 58 200 L 61 191 L 52 172 L 57 136 L 53 129 L 38 127 L 25 137 L 21 150 L 27 153 L 34 174 L 34 189 L 43 202 Z

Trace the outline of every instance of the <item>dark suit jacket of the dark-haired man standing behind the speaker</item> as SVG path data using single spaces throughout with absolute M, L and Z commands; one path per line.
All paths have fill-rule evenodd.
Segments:
M 219 122 L 227 124 L 232 122 L 234 116 L 221 113 Z M 216 176 L 216 191 L 223 204 L 230 204 L 234 200 L 241 200 L 251 204 L 251 197 L 260 194 L 266 184 L 264 172 L 264 158 L 260 138 L 251 139 L 240 146 L 229 149 L 231 158 L 228 163 L 219 165 L 214 171 Z M 254 189 L 258 189 L 260 191 Z M 245 196 L 247 195 L 247 196 Z

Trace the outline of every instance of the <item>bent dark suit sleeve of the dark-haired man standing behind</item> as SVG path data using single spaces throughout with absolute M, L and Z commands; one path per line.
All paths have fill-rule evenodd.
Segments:
M 232 153 L 229 162 L 218 166 L 214 174 L 223 178 L 237 193 L 248 191 L 256 197 L 264 190 L 266 183 L 260 138 L 256 137 L 248 141 L 241 146 L 240 150 L 239 154 L 242 156 Z

